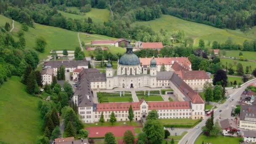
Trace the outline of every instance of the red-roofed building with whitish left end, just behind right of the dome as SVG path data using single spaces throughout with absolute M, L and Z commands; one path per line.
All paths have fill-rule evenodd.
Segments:
M 153 43 L 142 43 L 142 42 L 136 42 L 135 43 L 136 49 L 153 49 L 160 51 L 161 48 L 163 48 L 162 42 L 153 42 Z

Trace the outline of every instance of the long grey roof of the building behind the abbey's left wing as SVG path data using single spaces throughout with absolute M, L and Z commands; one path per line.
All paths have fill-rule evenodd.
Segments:
M 64 65 L 65 67 L 77 67 L 77 66 L 88 66 L 88 62 L 86 60 L 78 60 L 78 61 L 46 61 L 44 63 L 45 67 L 58 68 Z

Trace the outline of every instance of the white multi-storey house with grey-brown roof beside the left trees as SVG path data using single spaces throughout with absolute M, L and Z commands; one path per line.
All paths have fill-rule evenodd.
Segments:
M 41 77 L 42 77 L 42 84 L 51 84 L 51 82 L 53 81 L 53 69 L 48 67 L 48 68 L 44 68 L 41 71 Z

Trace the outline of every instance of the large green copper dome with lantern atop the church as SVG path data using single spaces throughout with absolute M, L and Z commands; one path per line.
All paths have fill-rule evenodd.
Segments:
M 127 45 L 126 53 L 119 59 L 119 64 L 122 64 L 122 65 L 139 65 L 139 64 L 141 64 L 138 56 L 136 56 L 133 53 L 133 47 L 132 47 L 130 41 L 129 41 L 129 44 Z

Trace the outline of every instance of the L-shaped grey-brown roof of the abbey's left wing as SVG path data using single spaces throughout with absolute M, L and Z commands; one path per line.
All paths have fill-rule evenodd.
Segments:
M 93 106 L 93 93 L 91 91 L 91 82 L 93 81 L 106 81 L 106 75 L 101 74 L 98 69 L 82 69 L 78 75 L 77 90 L 74 94 L 78 96 L 78 107 Z

